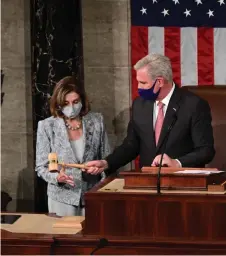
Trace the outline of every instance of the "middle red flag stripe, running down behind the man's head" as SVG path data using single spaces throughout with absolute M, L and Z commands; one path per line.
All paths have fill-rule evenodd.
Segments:
M 165 55 L 170 58 L 173 70 L 173 80 L 181 85 L 181 53 L 180 53 L 180 28 L 167 27 L 164 29 Z

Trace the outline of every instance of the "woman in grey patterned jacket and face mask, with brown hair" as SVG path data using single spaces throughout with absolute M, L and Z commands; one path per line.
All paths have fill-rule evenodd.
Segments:
M 48 182 L 48 208 L 59 216 L 84 215 L 84 193 L 105 177 L 77 168 L 48 171 L 48 154 L 64 163 L 84 163 L 110 153 L 103 116 L 90 112 L 85 91 L 73 77 L 63 78 L 50 101 L 52 116 L 38 123 L 36 168 Z

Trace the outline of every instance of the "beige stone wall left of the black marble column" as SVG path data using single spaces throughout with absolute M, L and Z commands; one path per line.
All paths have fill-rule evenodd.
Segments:
M 30 6 L 27 0 L 1 1 L 1 190 L 12 197 L 9 210 L 33 210 L 33 119 Z M 24 208 L 25 206 L 25 208 Z

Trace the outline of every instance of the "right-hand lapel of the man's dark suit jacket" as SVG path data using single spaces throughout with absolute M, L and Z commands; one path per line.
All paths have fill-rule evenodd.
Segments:
M 172 123 L 172 118 L 175 115 L 175 109 L 178 111 L 179 110 L 179 101 L 181 99 L 181 94 L 180 94 L 180 89 L 177 88 L 177 86 L 175 86 L 175 90 L 173 92 L 173 95 L 170 99 L 166 114 L 165 114 L 165 118 L 164 118 L 164 122 L 163 122 L 163 126 L 162 126 L 162 130 L 161 130 L 161 134 L 160 134 L 160 138 L 158 141 L 158 145 L 156 147 L 156 152 L 159 151 L 159 149 L 162 146 L 163 140 L 166 136 L 167 130 L 169 125 Z

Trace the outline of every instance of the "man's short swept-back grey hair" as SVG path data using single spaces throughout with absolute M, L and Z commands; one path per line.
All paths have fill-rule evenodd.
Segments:
M 155 80 L 158 76 L 162 76 L 168 82 L 173 82 L 173 72 L 168 57 L 161 54 L 148 54 L 134 65 L 134 69 L 138 70 L 145 66 L 151 79 Z

